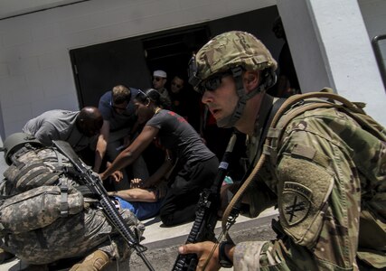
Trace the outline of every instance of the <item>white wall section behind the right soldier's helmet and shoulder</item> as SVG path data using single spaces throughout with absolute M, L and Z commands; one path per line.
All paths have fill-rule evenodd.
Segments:
M 278 11 L 301 88 L 331 87 L 366 103 L 386 126 L 386 95 L 357 1 L 278 0 Z

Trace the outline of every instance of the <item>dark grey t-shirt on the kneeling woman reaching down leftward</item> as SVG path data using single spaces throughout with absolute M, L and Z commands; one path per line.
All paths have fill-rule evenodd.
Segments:
M 182 163 L 205 161 L 214 156 L 186 119 L 173 111 L 160 110 L 147 121 L 146 126 L 159 129 L 159 144 L 171 150 Z

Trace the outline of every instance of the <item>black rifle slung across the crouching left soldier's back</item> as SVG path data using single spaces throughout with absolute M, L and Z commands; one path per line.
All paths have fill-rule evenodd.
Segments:
M 75 154 L 71 145 L 67 142 L 52 140 L 52 144 L 61 152 L 61 154 L 70 160 L 71 164 L 73 164 L 75 170 L 78 172 L 78 176 L 80 177 L 80 182 L 82 182 L 80 184 L 86 185 L 89 190 L 97 196 L 106 218 L 127 241 L 128 246 L 135 248 L 137 255 L 142 258 L 147 268 L 154 271 L 155 269 L 144 255 L 147 248 L 139 244 L 135 233 L 128 228 L 125 220 L 123 220 L 122 216 L 119 214 L 114 203 L 108 198 L 108 192 L 104 188 L 99 175 L 92 173 L 91 169 L 89 169 L 89 167 L 80 160 L 79 156 Z

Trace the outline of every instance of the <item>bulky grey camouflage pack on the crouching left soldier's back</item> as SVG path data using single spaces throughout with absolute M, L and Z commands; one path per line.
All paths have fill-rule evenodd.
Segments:
M 25 144 L 11 155 L 0 183 L 3 234 L 44 228 L 83 210 L 82 193 L 69 174 L 71 163 L 50 147 Z

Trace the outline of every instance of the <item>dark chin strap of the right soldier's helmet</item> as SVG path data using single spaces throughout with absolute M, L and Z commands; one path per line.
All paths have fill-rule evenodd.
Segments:
M 240 69 L 240 70 L 236 70 Z M 242 113 L 244 112 L 245 105 L 247 104 L 247 100 L 249 98 L 254 97 L 255 95 L 259 94 L 261 91 L 266 89 L 266 83 L 260 84 L 258 88 L 253 89 L 248 94 L 245 92 L 244 86 L 242 84 L 242 70 L 240 67 L 234 68 L 231 70 L 233 74 L 233 79 L 236 84 L 236 92 L 239 96 L 239 101 L 237 103 L 237 106 L 234 108 L 233 113 L 228 116 L 224 117 L 221 120 L 217 121 L 217 126 L 221 128 L 231 128 L 236 124 L 236 122 L 240 119 Z

